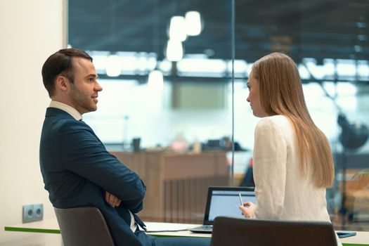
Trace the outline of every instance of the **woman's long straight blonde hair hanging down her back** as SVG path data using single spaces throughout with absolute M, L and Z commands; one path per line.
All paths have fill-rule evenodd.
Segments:
M 252 73 L 259 82 L 264 112 L 284 115 L 292 122 L 302 176 L 309 173 L 317 187 L 332 186 L 335 170 L 330 145 L 309 115 L 294 61 L 283 53 L 271 53 L 254 63 Z

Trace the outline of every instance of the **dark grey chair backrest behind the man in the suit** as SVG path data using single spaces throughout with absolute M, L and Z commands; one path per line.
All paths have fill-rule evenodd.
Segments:
M 104 216 L 96 207 L 54 210 L 65 246 L 114 246 Z

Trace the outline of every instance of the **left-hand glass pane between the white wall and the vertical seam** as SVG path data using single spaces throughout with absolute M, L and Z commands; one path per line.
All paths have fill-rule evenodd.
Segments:
M 200 223 L 207 188 L 231 183 L 231 7 L 69 2 L 69 43 L 103 86 L 84 120 L 145 182 L 146 221 Z

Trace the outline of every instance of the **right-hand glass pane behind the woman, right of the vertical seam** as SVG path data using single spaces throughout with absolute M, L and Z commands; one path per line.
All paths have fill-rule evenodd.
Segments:
M 297 64 L 309 112 L 335 159 L 335 185 L 327 190 L 335 228 L 368 231 L 369 179 L 358 178 L 369 168 L 368 3 L 235 1 L 235 10 L 235 61 L 252 65 L 283 52 Z M 258 119 L 245 105 L 243 82 L 234 96 L 235 139 L 252 149 Z

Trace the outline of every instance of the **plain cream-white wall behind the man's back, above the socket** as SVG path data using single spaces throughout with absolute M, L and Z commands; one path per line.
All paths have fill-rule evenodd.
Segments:
M 49 99 L 41 66 L 65 45 L 63 0 L 0 1 L 0 242 L 22 223 L 22 205 L 53 209 L 39 170 L 39 138 Z

